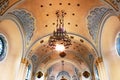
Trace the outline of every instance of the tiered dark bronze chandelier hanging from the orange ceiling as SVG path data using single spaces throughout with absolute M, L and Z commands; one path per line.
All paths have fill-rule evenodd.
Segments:
M 53 49 L 55 49 L 56 45 L 63 45 L 65 48 L 68 48 L 71 45 L 71 40 L 67 35 L 66 30 L 64 29 L 64 16 L 65 12 L 63 10 L 56 11 L 57 16 L 57 24 L 56 30 L 53 31 L 53 34 L 50 36 L 48 43 Z

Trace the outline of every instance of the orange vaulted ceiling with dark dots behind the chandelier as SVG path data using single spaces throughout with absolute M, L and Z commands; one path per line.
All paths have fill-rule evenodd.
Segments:
M 68 70 L 71 69 L 69 66 L 74 66 L 81 71 L 87 69 L 92 71 L 91 64 L 99 56 L 95 48 L 97 46 L 95 38 L 99 28 L 94 28 L 96 32 L 94 33 L 93 30 L 94 34 L 92 34 L 90 26 L 98 26 L 97 22 L 107 11 L 110 12 L 111 9 L 106 5 L 111 3 L 109 0 L 2 0 L 0 4 L 5 2 L 9 5 L 1 9 L 1 15 L 8 13 L 17 17 L 20 24 L 27 26 L 23 28 L 27 29 L 26 36 L 29 35 L 27 31 L 31 31 L 26 55 L 33 63 L 34 72 L 39 69 L 47 70 L 51 66 L 57 70 L 62 60 L 68 64 L 65 65 Z M 116 10 L 119 6 L 114 8 Z M 48 45 L 49 36 L 56 28 L 57 10 L 65 11 L 64 27 L 72 40 L 72 45 L 64 51 L 66 53 L 64 58 Z M 95 25 L 91 24 L 92 21 Z M 32 30 L 31 26 L 34 27 Z

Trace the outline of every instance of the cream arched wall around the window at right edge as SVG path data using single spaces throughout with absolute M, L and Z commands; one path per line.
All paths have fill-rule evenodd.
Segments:
M 101 53 L 108 78 L 111 80 L 120 79 L 118 75 L 120 74 L 118 67 L 120 66 L 120 58 L 115 49 L 115 38 L 119 31 L 119 19 L 116 16 L 111 16 L 106 20 L 101 34 Z

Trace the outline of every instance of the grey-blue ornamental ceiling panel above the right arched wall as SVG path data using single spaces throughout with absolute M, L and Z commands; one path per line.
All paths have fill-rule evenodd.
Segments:
M 99 40 L 101 25 L 104 24 L 106 19 L 108 19 L 111 15 L 115 15 L 114 11 L 106 7 L 94 8 L 89 12 L 89 15 L 87 17 L 88 21 L 87 26 L 89 33 L 96 44 L 98 43 Z

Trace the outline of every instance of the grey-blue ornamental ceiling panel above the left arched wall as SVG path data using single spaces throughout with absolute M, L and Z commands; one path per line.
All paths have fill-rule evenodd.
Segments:
M 35 30 L 35 19 L 28 11 L 24 9 L 17 9 L 8 13 L 15 18 L 15 21 L 21 25 L 23 33 L 25 35 L 25 44 L 28 45 Z

